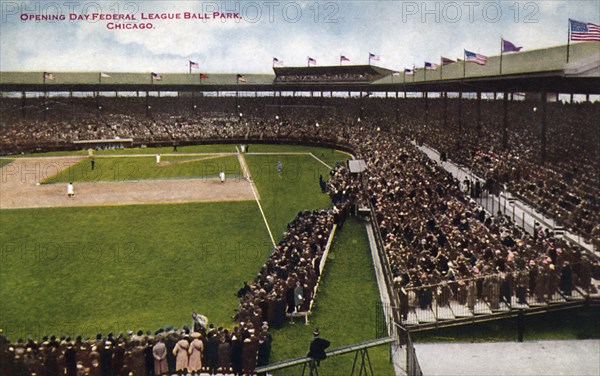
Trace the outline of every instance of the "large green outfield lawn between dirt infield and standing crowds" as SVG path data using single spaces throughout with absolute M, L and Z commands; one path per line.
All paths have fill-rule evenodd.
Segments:
M 271 250 L 254 202 L 2 210 L 6 335 L 233 325 L 242 281 Z

